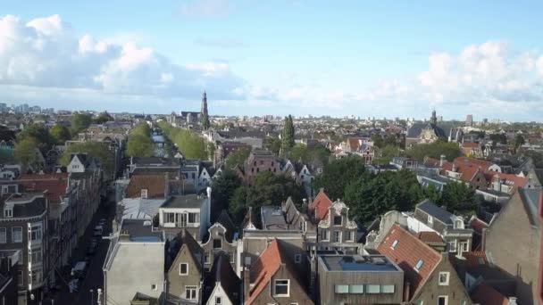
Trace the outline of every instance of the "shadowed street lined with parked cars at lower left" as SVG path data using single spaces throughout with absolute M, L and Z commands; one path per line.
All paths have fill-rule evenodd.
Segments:
M 71 281 L 70 271 L 73 265 L 81 260 L 85 260 L 87 255 L 88 244 L 93 239 L 94 227 L 97 226 L 101 218 L 105 218 L 103 236 L 108 236 L 112 232 L 112 221 L 115 211 L 115 203 L 113 201 L 108 202 L 106 205 L 100 205 L 96 210 L 95 216 L 91 223 L 88 225 L 85 235 L 79 240 L 78 246 L 74 251 L 73 258 L 71 259 L 71 266 L 68 266 L 63 270 L 63 277 L 66 282 Z M 63 288 L 60 292 L 55 293 L 54 304 L 71 305 L 71 304 L 96 304 L 96 289 L 104 289 L 104 273 L 102 267 L 104 266 L 105 255 L 109 246 L 109 240 L 99 238 L 99 243 L 96 246 L 96 252 L 90 256 L 88 262 L 87 272 L 85 277 L 79 281 L 79 292 L 70 293 L 69 287 L 63 280 Z M 93 290 L 91 300 L 90 290 Z M 92 301 L 92 303 L 91 303 Z

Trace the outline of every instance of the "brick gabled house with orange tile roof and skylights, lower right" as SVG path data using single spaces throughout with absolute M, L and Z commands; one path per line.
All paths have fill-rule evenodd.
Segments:
M 467 304 L 472 300 L 449 260 L 397 224 L 377 247 L 404 270 L 404 301 L 412 304 Z

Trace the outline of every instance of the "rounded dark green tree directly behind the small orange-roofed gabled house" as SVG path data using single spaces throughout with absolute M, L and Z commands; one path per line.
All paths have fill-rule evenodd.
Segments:
M 359 156 L 331 161 L 314 180 L 314 188 L 324 188 L 331 200 L 343 198 L 347 184 L 364 175 L 363 164 L 364 161 Z

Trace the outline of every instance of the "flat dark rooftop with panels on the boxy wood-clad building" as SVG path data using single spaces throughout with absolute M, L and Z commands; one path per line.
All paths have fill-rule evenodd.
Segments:
M 401 272 L 395 263 L 384 255 L 320 255 L 319 260 L 327 271 L 347 272 Z

